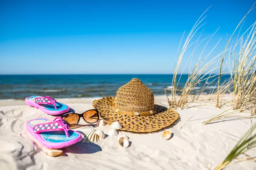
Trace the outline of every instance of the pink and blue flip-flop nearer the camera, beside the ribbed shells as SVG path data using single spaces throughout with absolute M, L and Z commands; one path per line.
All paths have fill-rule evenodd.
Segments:
M 52 122 L 45 118 L 30 120 L 26 129 L 47 148 L 63 148 L 79 142 L 80 133 L 68 130 L 68 123 L 61 117 L 56 117 Z

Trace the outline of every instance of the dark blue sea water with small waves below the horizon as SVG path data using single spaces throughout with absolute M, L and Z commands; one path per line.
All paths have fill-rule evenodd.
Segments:
M 53 98 L 116 96 L 118 88 L 132 78 L 141 79 L 155 96 L 164 95 L 165 88 L 173 87 L 172 74 L 0 75 L 0 99 L 24 99 L 34 95 Z M 184 87 L 187 78 L 188 75 L 181 76 L 179 89 Z M 222 82 L 228 78 L 223 76 Z M 206 84 L 208 90 L 204 93 L 210 93 L 216 89 L 216 83 L 217 80 L 211 78 L 208 82 L 198 83 L 194 90 L 200 91 Z

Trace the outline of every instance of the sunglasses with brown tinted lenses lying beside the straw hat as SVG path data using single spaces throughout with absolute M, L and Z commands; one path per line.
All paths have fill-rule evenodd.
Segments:
M 98 122 L 98 120 L 99 120 L 99 113 L 98 113 L 97 110 L 92 109 L 92 110 L 85 111 L 82 114 L 66 113 L 66 114 L 61 116 L 61 118 L 69 124 L 69 129 L 89 126 L 89 125 L 79 125 L 78 124 L 81 117 L 87 123 L 95 123 L 95 122 Z

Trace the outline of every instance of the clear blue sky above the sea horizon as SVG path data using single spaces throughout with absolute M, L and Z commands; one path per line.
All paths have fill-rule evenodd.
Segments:
M 0 0 L 0 74 L 172 74 L 183 32 L 209 6 L 203 36 L 220 27 L 217 54 L 254 1 Z

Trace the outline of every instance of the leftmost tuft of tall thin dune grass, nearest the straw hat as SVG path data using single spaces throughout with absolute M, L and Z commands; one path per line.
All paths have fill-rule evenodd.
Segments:
M 204 51 L 205 51 L 207 45 L 209 44 L 210 40 L 212 39 L 212 37 L 214 36 L 216 31 L 218 31 L 218 30 L 216 30 L 215 33 L 213 33 L 212 35 L 209 35 L 208 37 L 204 38 L 203 40 L 200 40 L 201 34 L 202 34 L 201 33 L 199 38 L 192 42 L 193 36 L 204 25 L 204 23 L 202 23 L 203 20 L 205 19 L 204 13 L 201 15 L 201 17 L 199 17 L 199 19 L 193 26 L 192 30 L 189 32 L 189 35 L 186 38 L 179 55 L 177 53 L 177 59 L 176 59 L 177 62 L 175 62 L 175 70 L 174 70 L 174 75 L 173 75 L 173 79 L 172 79 L 172 87 L 173 88 L 171 89 L 171 99 L 169 99 L 168 94 L 166 92 L 169 106 L 172 108 L 175 108 L 175 109 L 178 109 L 178 108 L 184 109 L 185 105 L 189 99 L 189 95 L 192 94 L 193 88 L 195 88 L 195 86 L 198 85 L 199 82 L 202 82 L 202 81 L 207 82 L 209 80 L 209 78 L 212 77 L 212 71 L 215 70 L 217 63 L 218 63 L 217 58 L 219 56 L 221 56 L 221 54 L 222 54 L 221 53 L 221 54 L 213 57 L 212 59 L 209 59 L 210 54 L 212 53 L 214 48 L 218 45 L 220 40 L 215 44 L 215 46 L 212 48 L 212 50 L 209 51 L 208 54 L 204 54 Z M 184 37 L 184 34 L 183 34 L 183 37 Z M 183 40 L 183 37 L 182 37 L 182 40 Z M 181 40 L 181 42 L 182 42 L 182 40 Z M 180 44 L 181 44 L 181 42 L 180 42 Z M 198 61 L 196 62 L 195 66 L 193 68 L 191 68 L 191 63 L 192 63 L 194 53 L 198 49 L 198 47 L 200 45 L 202 45 L 203 43 L 205 43 L 205 44 L 204 44 L 204 47 L 202 48 L 202 51 L 199 54 Z M 180 89 L 178 89 L 178 85 L 179 85 L 181 76 L 183 74 L 183 71 L 182 71 L 182 74 L 180 75 L 180 77 L 177 77 L 178 71 L 180 70 L 180 64 L 181 64 L 181 61 L 182 61 L 186 51 L 189 48 L 192 48 L 192 46 L 194 46 L 192 53 L 190 54 L 189 59 L 187 60 L 186 65 L 183 68 L 183 71 L 184 71 L 184 69 L 188 65 L 188 62 L 190 61 L 188 79 L 187 79 L 183 89 L 180 90 Z M 180 45 L 178 48 L 178 52 L 179 52 L 179 49 L 180 49 Z M 211 69 L 209 69 L 209 68 L 211 68 Z M 181 94 L 178 97 L 176 95 L 177 91 L 181 91 Z M 203 91 L 203 89 L 201 91 Z

